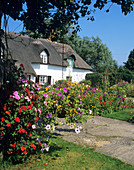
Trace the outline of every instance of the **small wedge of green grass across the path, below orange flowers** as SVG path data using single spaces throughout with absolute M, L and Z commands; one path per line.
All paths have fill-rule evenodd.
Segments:
M 130 122 L 130 117 L 134 114 L 134 109 L 125 109 L 123 111 L 113 112 L 112 114 L 102 115 L 103 117 L 124 120 Z

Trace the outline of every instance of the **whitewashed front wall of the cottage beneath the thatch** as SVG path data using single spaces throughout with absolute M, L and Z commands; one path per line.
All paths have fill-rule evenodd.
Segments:
M 62 80 L 62 79 L 66 80 L 66 77 L 70 76 L 70 69 L 65 67 L 63 67 L 63 76 L 62 76 L 62 67 L 60 66 L 32 64 L 32 67 L 37 75 L 51 76 L 51 84 L 54 84 L 55 81 L 57 80 Z M 72 81 L 76 81 L 78 83 L 79 81 L 84 80 L 87 73 L 92 73 L 92 72 L 90 70 L 72 69 L 71 70 Z M 32 77 L 32 79 L 34 78 Z

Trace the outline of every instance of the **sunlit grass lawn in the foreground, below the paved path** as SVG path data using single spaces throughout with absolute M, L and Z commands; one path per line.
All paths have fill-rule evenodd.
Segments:
M 95 152 L 93 148 L 86 148 L 53 137 L 53 144 L 48 153 L 40 158 L 33 155 L 23 164 L 10 165 L 1 162 L 1 170 L 134 170 L 134 166 L 126 164 L 116 158 Z

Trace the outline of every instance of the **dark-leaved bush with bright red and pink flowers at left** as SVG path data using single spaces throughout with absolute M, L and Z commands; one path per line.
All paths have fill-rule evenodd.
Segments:
M 20 81 L 21 83 L 21 81 Z M 38 138 L 40 89 L 38 84 L 24 82 L 22 89 L 14 91 L 1 113 L 1 147 L 4 159 L 22 161 L 41 148 Z

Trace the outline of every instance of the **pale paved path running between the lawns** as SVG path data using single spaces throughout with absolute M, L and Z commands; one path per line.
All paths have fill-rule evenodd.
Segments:
M 59 119 L 64 122 L 64 119 Z M 95 147 L 97 152 L 116 157 L 134 165 L 134 124 L 125 121 L 95 117 L 82 125 L 83 132 L 76 134 L 64 123 L 56 126 L 55 134 L 77 144 Z

